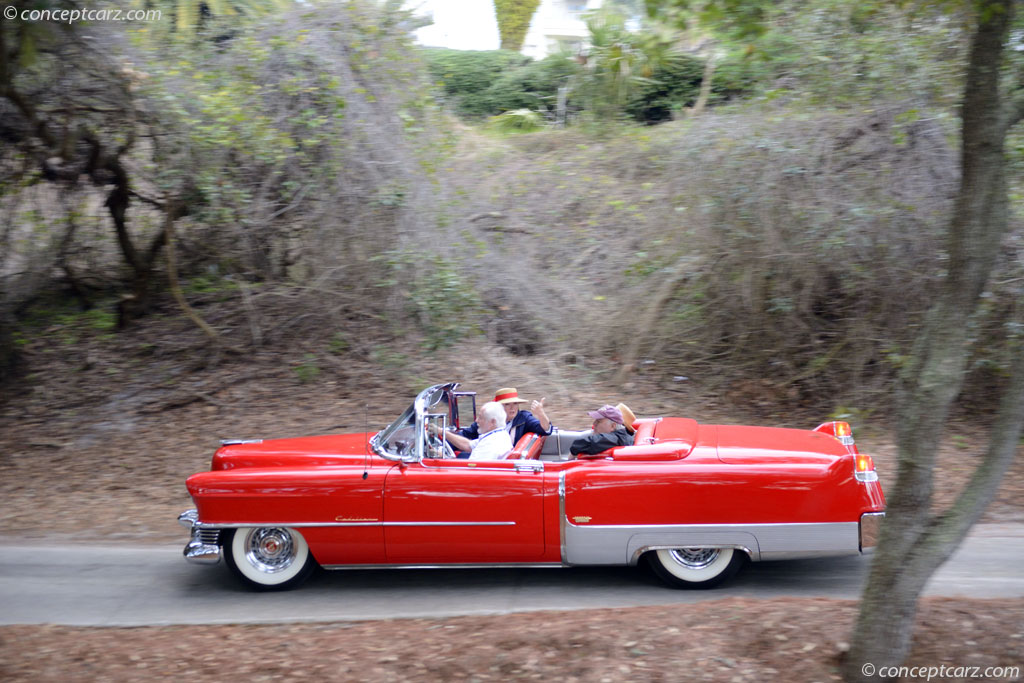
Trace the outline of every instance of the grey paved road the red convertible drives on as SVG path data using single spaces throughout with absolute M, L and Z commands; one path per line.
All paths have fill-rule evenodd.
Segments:
M 41 546 L 0 539 L 0 625 L 142 626 L 329 622 L 685 604 L 727 597 L 855 598 L 868 559 L 749 565 L 713 591 L 665 588 L 645 569 L 402 569 L 314 574 L 297 591 L 242 589 L 223 563 L 174 546 Z M 980 525 L 928 595 L 1024 596 L 1024 524 Z

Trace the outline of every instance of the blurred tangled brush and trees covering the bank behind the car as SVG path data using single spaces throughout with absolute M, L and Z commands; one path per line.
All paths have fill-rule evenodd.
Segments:
M 53 343 L 270 350 L 315 383 L 485 337 L 621 381 L 884 410 L 946 267 L 964 17 L 787 0 L 753 35 L 637 4 L 540 61 L 418 47 L 391 0 L 4 20 L 2 379 L 31 387 Z M 1009 153 L 971 411 L 1022 333 L 1019 134 Z M 207 332 L 154 348 L 138 331 L 178 315 L 175 289 Z

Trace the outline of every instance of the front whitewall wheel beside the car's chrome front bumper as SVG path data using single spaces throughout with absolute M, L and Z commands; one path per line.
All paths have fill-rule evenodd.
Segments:
M 285 591 L 305 581 L 316 560 L 302 535 L 282 526 L 231 529 L 224 539 L 227 566 L 257 591 Z

